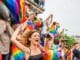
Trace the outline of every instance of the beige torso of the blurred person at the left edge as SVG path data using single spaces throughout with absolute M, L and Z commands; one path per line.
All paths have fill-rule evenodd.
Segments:
M 8 54 L 9 53 L 9 47 L 10 47 L 10 40 L 7 34 L 3 33 L 0 36 L 1 44 L 0 44 L 0 50 L 1 54 Z

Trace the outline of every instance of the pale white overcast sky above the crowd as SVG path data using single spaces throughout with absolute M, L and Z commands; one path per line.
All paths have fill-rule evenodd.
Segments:
M 45 11 L 39 14 L 44 20 L 53 14 L 53 21 L 60 23 L 60 29 L 68 35 L 80 35 L 80 0 L 46 0 Z

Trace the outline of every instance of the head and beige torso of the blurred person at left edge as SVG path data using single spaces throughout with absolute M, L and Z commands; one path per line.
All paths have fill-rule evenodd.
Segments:
M 9 53 L 9 37 L 6 31 L 6 24 L 4 21 L 0 20 L 0 51 L 1 54 Z

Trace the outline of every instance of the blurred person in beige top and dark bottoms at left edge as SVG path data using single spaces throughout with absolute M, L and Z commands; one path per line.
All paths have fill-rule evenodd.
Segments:
M 4 22 L 4 23 L 3 23 Z M 3 24 L 2 24 L 3 23 Z M 4 27 L 4 26 L 5 27 Z M 7 23 L 3 20 L 0 20 L 0 53 L 2 54 L 3 60 L 9 60 L 10 53 L 10 36 L 12 34 L 12 30 L 10 26 L 7 26 Z

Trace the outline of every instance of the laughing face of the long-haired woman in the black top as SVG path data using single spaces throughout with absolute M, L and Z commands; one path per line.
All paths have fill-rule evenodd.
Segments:
M 40 43 L 40 34 L 38 32 L 34 32 L 30 38 L 32 44 L 39 44 Z

